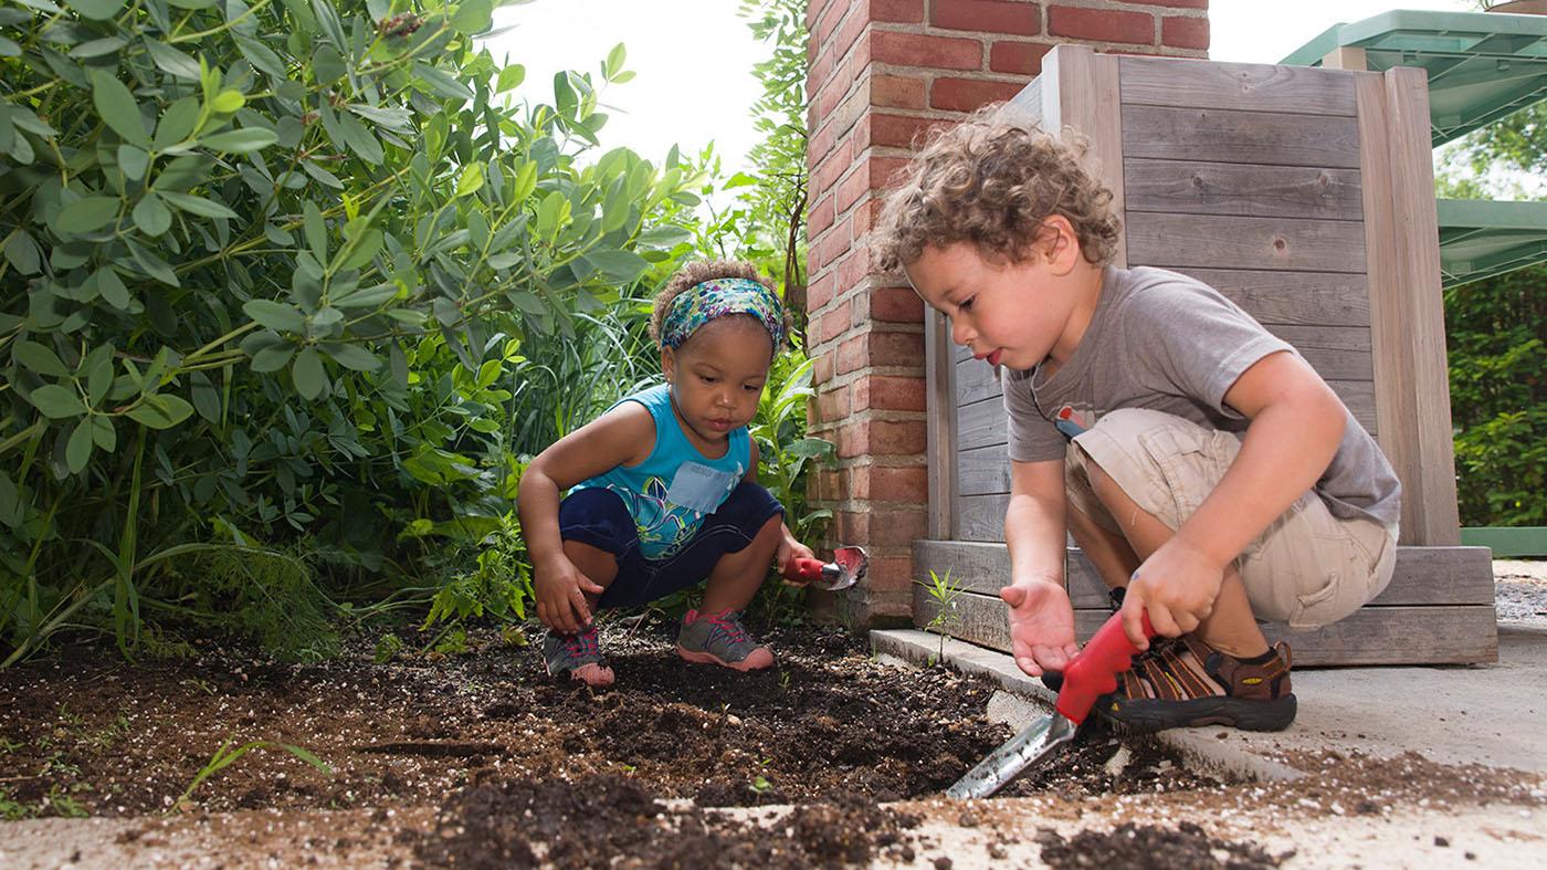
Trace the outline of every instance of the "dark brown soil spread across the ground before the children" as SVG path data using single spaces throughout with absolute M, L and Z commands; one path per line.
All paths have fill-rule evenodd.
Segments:
M 1228 783 L 1088 724 L 1002 793 L 1018 800 L 961 805 L 937 796 L 1010 737 L 984 718 L 993 684 L 883 666 L 831 629 L 770 633 L 778 663 L 752 675 L 688 666 L 671 635 L 614 625 L 617 686 L 602 692 L 549 680 L 535 649 L 493 632 L 467 655 L 388 664 L 367 639 L 317 666 L 212 646 L 138 667 L 65 650 L 0 672 L 0 813 L 96 819 L 9 844 L 0 825 L 0 855 L 29 859 L 36 842 L 34 865 L 944 870 L 950 850 L 922 833 L 944 817 L 993 833 L 964 865 L 1035 847 L 1060 868 L 1275 867 L 1289 851 L 1255 842 L 1275 820 L 1542 802 L 1507 774 L 1414 757 L 1293 759 L 1312 776 Z M 190 790 L 217 748 L 260 740 Z M 51 831 L 63 851 L 42 845 Z

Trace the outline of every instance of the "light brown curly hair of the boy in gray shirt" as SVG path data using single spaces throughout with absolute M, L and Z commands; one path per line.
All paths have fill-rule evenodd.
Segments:
M 1084 142 L 1067 146 L 1016 124 L 1002 105 L 933 133 L 913 158 L 871 240 L 883 269 L 956 241 L 970 241 L 990 262 L 1019 262 L 1050 215 L 1069 220 L 1086 260 L 1111 260 L 1118 234 L 1112 192 L 1080 164 Z

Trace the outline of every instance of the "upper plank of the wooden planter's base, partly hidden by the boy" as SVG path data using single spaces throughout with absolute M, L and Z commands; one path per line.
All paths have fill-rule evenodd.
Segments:
M 1002 543 L 916 540 L 917 574 L 950 571 L 964 591 L 998 594 L 1010 582 L 1010 550 Z M 1069 599 L 1080 607 L 1106 607 L 1106 584 L 1077 548 L 1064 556 Z M 1485 546 L 1398 546 L 1391 585 L 1369 607 L 1493 604 L 1493 562 Z

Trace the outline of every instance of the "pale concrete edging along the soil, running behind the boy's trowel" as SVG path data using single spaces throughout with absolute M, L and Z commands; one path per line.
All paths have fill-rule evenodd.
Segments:
M 879 656 L 908 667 L 928 667 L 941 655 L 939 635 L 916 629 L 876 630 L 869 633 L 869 639 L 871 650 Z M 1052 689 L 1043 686 L 1041 680 L 1023 673 L 1015 659 L 1006 653 L 947 638 L 944 661 L 962 673 L 987 676 L 1006 692 L 1021 698 L 1021 703 L 1015 703 L 995 694 L 985 711 L 989 718 L 1002 721 L 1015 731 L 1026 728 L 1032 718 L 1047 714 L 1058 700 Z M 1217 734 L 1219 728 L 1177 728 L 1140 740 L 1174 749 L 1190 766 L 1213 771 L 1225 779 L 1293 780 L 1306 776 L 1284 762 L 1253 751 L 1253 748 L 1272 749 L 1265 742 L 1256 743 L 1250 737 L 1219 740 Z

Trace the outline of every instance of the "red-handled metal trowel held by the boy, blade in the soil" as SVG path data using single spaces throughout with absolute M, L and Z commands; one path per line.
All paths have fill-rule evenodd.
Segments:
M 1149 615 L 1145 615 L 1145 636 L 1153 638 L 1154 629 L 1149 625 Z M 1069 666 L 1064 667 L 1063 689 L 1058 692 L 1058 703 L 1054 712 L 1038 717 L 1026 726 L 978 766 L 967 771 L 967 776 L 956 780 L 956 785 L 945 790 L 947 797 L 964 800 L 968 797 L 989 797 L 1021 776 L 1027 768 L 1041 762 L 1064 743 L 1074 740 L 1074 732 L 1091 712 L 1095 700 L 1117 689 L 1117 675 L 1132 667 L 1132 656 L 1139 647 L 1128 641 L 1123 633 L 1123 618 L 1114 613 L 1091 641 L 1084 644 Z

